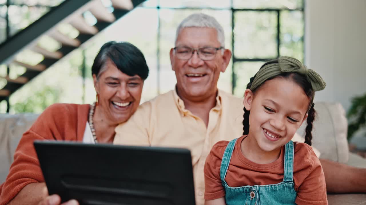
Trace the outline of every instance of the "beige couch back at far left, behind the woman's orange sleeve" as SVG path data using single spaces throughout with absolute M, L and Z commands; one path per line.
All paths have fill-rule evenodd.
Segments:
M 5 181 L 13 154 L 23 133 L 30 128 L 38 114 L 0 115 L 0 184 Z

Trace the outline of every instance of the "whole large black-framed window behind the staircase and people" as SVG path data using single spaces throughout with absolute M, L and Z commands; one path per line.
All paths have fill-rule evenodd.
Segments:
M 0 42 L 6 39 L 3 34 L 12 35 L 62 1 L 10 0 L 12 5 L 7 5 L 0 0 Z M 37 15 L 31 14 L 32 9 L 38 9 L 34 12 Z M 128 41 L 145 55 L 150 74 L 144 84 L 142 102 L 173 89 L 176 78 L 169 50 L 174 47 L 178 24 L 197 12 L 219 21 L 225 32 L 225 47 L 233 53 L 227 70 L 220 75 L 219 89 L 242 97 L 250 77 L 266 60 L 287 55 L 303 61 L 303 9 L 303 0 L 147 0 L 88 42 L 87 49 L 74 50 L 12 94 L 10 112 L 42 112 L 55 102 L 95 101 L 91 65 L 101 45 L 109 40 Z M 63 29 L 67 30 L 67 25 Z M 49 39 L 45 42 L 55 48 L 59 46 Z M 35 56 L 30 60 L 42 59 Z M 6 69 L 0 65 L 0 75 Z M 9 70 L 14 76 L 23 72 L 16 66 L 10 66 Z M 0 88 L 1 85 L 0 82 Z M 4 112 L 5 106 L 0 102 L 0 112 Z

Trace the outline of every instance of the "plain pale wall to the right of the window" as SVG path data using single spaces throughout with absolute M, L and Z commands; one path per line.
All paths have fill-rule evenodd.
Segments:
M 317 101 L 340 102 L 366 94 L 366 1 L 306 0 L 305 63 L 327 86 Z

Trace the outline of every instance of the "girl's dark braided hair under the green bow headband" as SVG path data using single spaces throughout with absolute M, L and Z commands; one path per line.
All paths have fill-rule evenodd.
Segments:
M 279 63 L 278 59 L 273 59 L 273 60 L 270 60 L 270 61 L 264 63 L 260 69 L 262 69 L 262 67 L 264 67 L 268 64 L 272 64 L 272 63 Z M 256 75 L 254 75 L 253 77 L 250 78 L 250 82 L 247 85 L 247 89 L 250 89 L 255 76 Z M 277 78 L 277 77 L 291 79 L 304 90 L 306 96 L 309 97 L 309 99 L 310 99 L 309 108 L 308 108 L 308 116 L 306 119 L 307 126 L 305 128 L 305 143 L 309 144 L 311 146 L 311 139 L 313 139 L 313 135 L 311 135 L 311 130 L 313 129 L 313 121 L 316 117 L 316 112 L 315 112 L 314 103 L 313 103 L 315 91 L 311 87 L 310 82 L 307 81 L 306 77 L 299 73 L 284 72 L 278 76 L 269 78 L 266 81 L 272 80 L 273 78 Z M 265 82 L 263 82 L 261 85 L 259 85 L 254 90 L 251 90 L 252 93 L 254 94 L 264 83 Z M 250 111 L 247 111 L 247 109 L 245 109 L 245 107 L 244 107 L 243 135 L 249 134 L 249 115 L 250 115 Z

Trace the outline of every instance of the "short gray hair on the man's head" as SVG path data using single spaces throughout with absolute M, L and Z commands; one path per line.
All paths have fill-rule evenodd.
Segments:
M 224 29 L 212 16 L 203 13 L 193 13 L 189 15 L 179 24 L 175 35 L 175 41 L 177 41 L 180 30 L 187 27 L 208 27 L 216 29 L 217 40 L 219 40 L 221 47 L 225 47 Z

